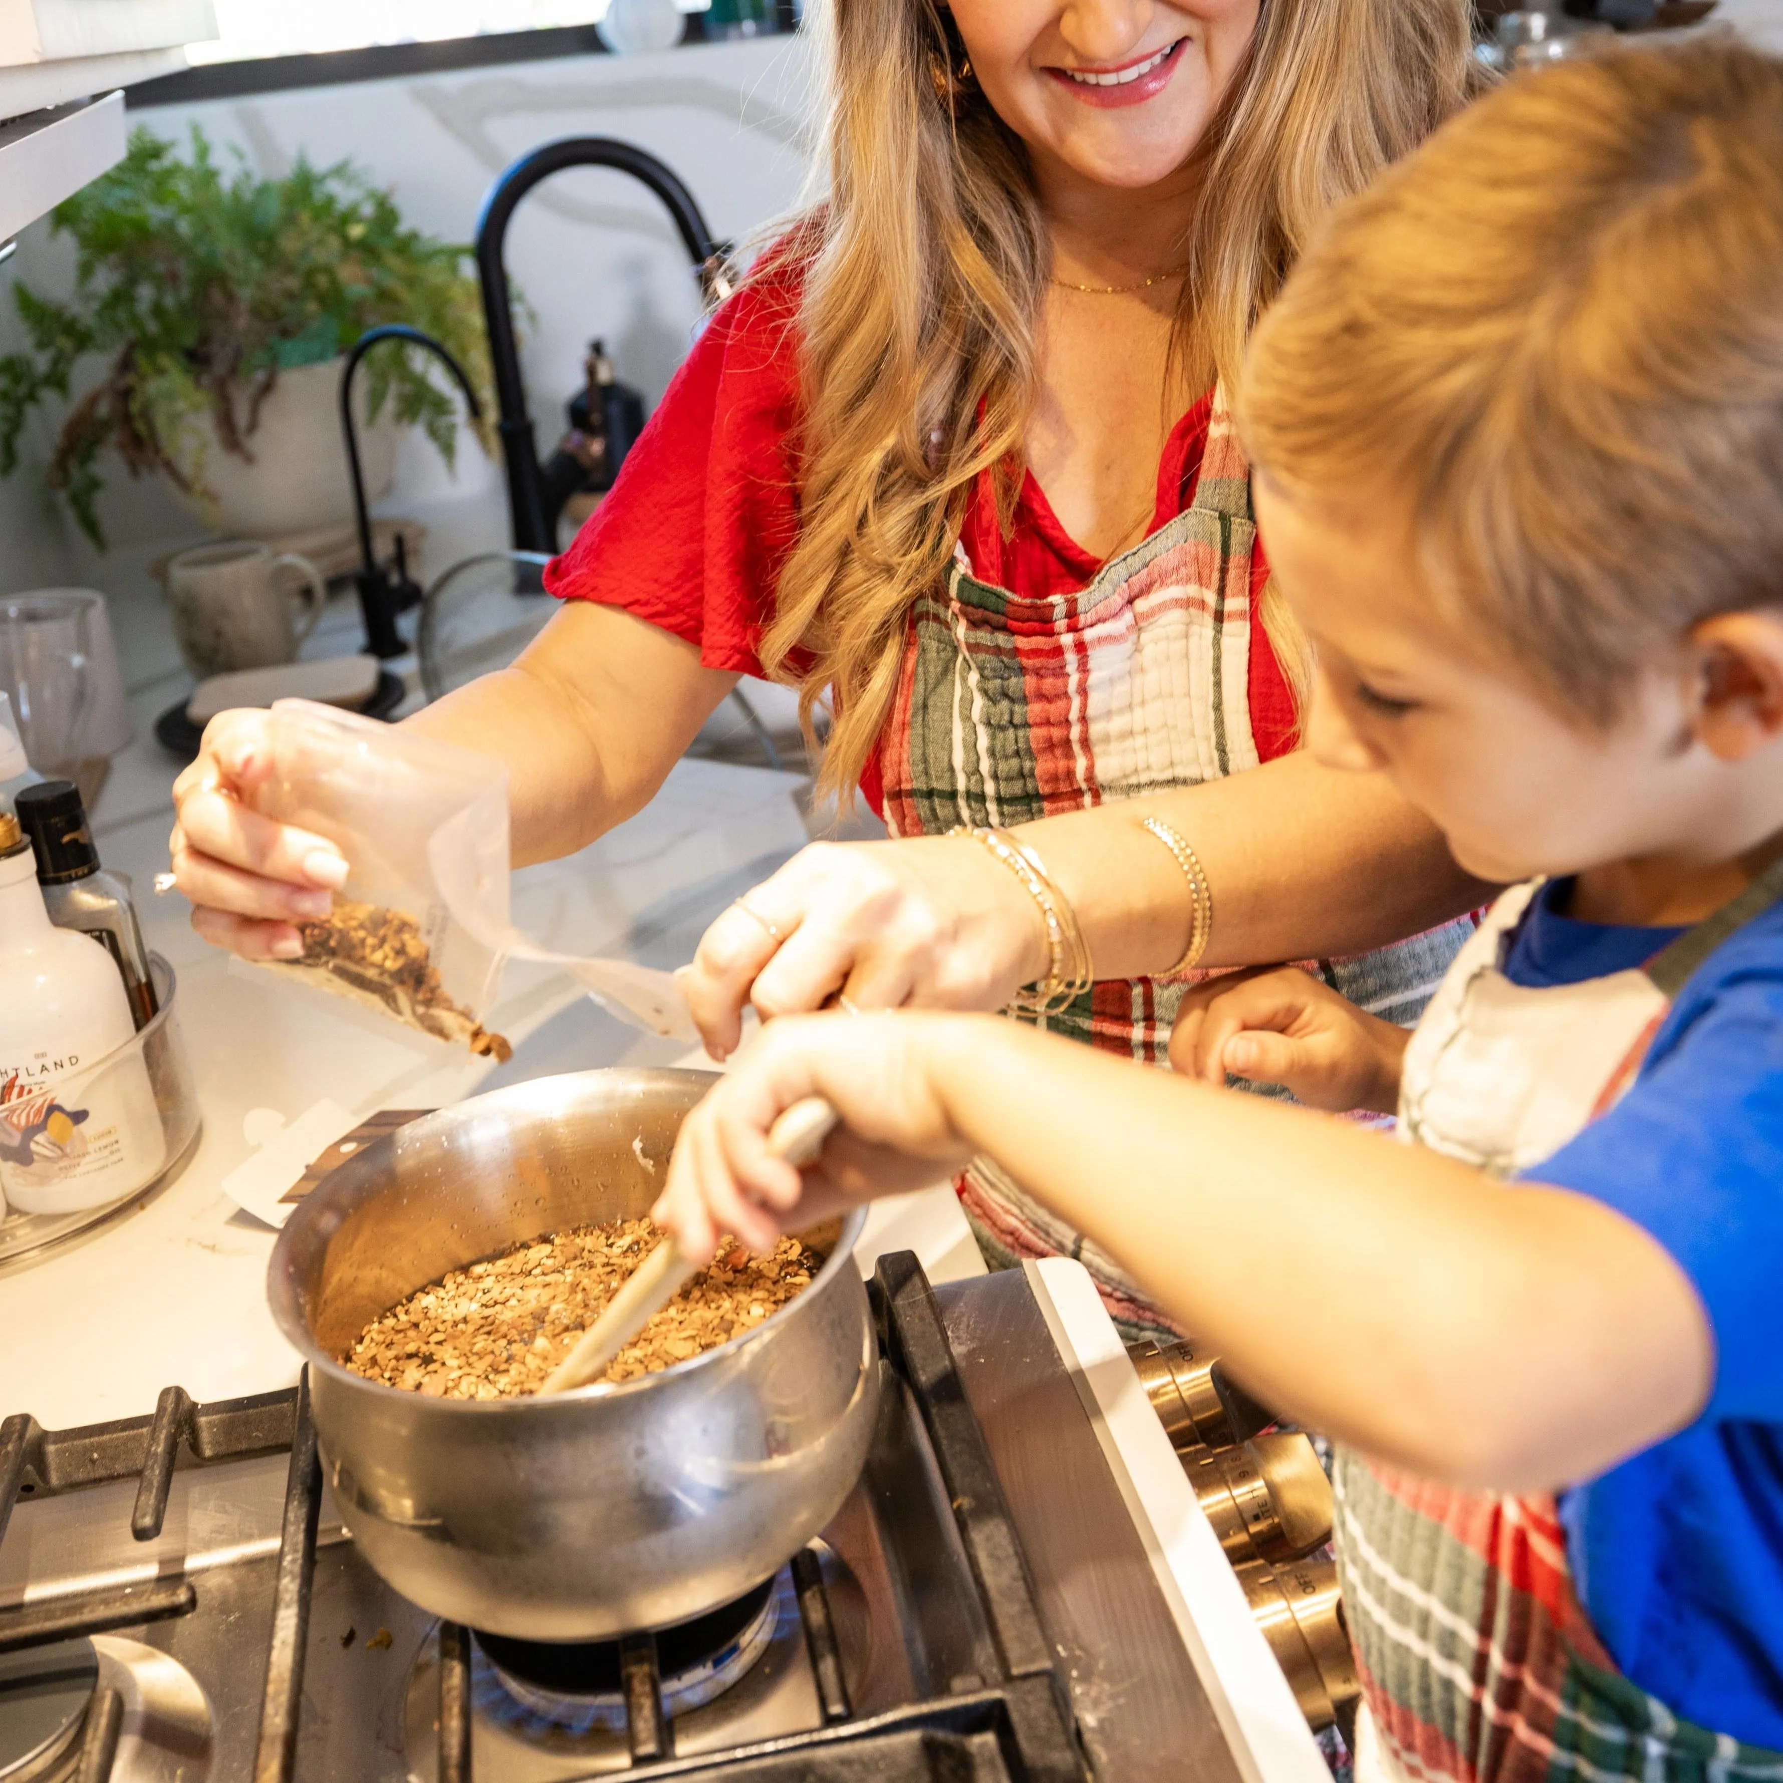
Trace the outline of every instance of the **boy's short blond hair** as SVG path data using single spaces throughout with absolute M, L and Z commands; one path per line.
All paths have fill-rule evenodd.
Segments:
M 1334 212 L 1241 426 L 1291 492 L 1409 497 L 1451 620 L 1608 722 L 1692 624 L 1783 601 L 1783 62 L 1507 82 Z

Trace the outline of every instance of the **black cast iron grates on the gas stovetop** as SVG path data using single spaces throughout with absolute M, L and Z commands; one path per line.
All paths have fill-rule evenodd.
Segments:
M 672 1672 L 669 1692 L 663 1687 L 667 1635 L 628 1635 L 617 1649 L 633 1772 L 733 1783 L 1088 1783 L 1089 1767 L 1052 1665 L 1020 1539 L 916 1257 L 881 1257 L 870 1298 L 881 1352 L 920 1412 L 952 1507 L 970 1574 L 965 1589 L 986 1631 L 974 1671 L 956 1676 L 945 1696 L 858 1717 L 822 1565 L 806 1548 L 792 1558 L 792 1582 L 822 1726 L 676 1758 Z M 139 1541 L 152 1541 L 166 1516 L 182 1446 L 198 1462 L 291 1450 L 253 1783 L 292 1783 L 323 1496 L 307 1371 L 294 1391 L 219 1405 L 194 1405 L 180 1387 L 168 1387 L 152 1419 L 66 1432 L 46 1432 L 25 1416 L 0 1421 L 0 1539 L 21 1494 L 50 1496 L 137 1475 L 130 1528 Z M 198 1592 L 187 1578 L 25 1605 L 0 1612 L 0 1655 L 189 1615 L 196 1606 Z M 471 1637 L 442 1623 L 437 1783 L 471 1783 Z M 80 1733 L 80 1783 L 111 1778 L 121 1717 L 118 1692 L 102 1685 Z

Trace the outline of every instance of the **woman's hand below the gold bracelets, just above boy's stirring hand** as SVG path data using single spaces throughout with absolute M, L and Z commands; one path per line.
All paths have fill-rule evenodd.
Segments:
M 1022 883 L 970 836 L 813 842 L 704 933 L 681 991 L 706 1050 L 735 1050 L 744 1007 L 1000 1009 L 1045 977 L 1047 931 Z

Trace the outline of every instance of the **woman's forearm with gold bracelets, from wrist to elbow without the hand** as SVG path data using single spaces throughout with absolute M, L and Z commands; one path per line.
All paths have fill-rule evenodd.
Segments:
M 1072 900 L 1098 977 L 1166 972 L 1187 943 L 1187 879 L 1141 829 L 1145 817 L 1164 818 L 1207 874 L 1207 966 L 1366 952 L 1491 895 L 1382 776 L 1325 768 L 1302 751 L 1202 786 L 1022 826 Z

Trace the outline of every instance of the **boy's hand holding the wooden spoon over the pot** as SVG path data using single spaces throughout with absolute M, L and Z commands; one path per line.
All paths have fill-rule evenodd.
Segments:
M 742 1052 L 681 1123 L 669 1182 L 651 1218 L 706 1262 L 724 1232 L 754 1252 L 877 1195 L 925 1187 L 972 1146 L 938 1084 L 945 1057 L 995 1016 L 781 1016 Z M 767 1148 L 776 1116 L 824 1095 L 842 1116 L 802 1173 Z

